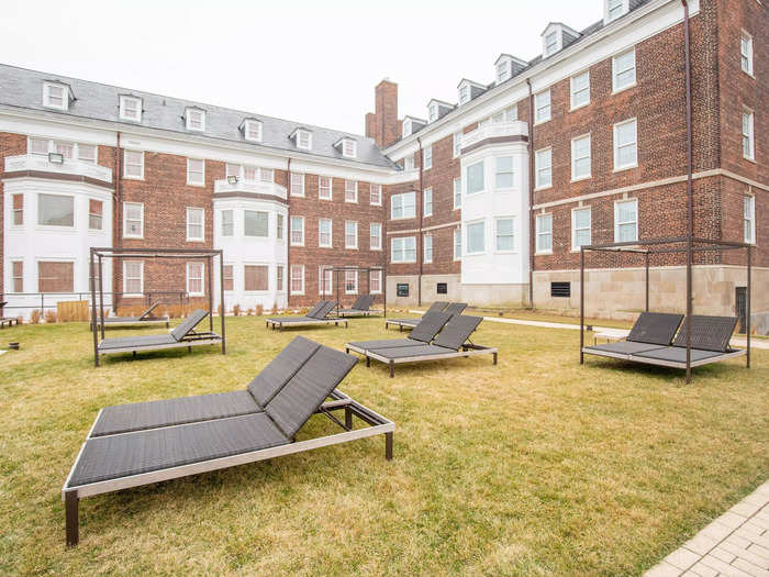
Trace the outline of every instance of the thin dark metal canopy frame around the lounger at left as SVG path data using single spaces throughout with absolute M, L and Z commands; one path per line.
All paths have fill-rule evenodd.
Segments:
M 90 276 L 91 276 L 91 319 L 99 319 L 99 331 L 93 333 L 93 358 L 99 366 L 99 333 L 104 339 L 104 284 L 103 284 L 103 259 L 104 258 L 183 258 L 186 260 L 203 260 L 208 263 L 208 293 L 209 293 L 209 330 L 213 332 L 213 260 L 219 257 L 219 293 L 222 309 L 221 331 L 222 331 L 222 354 L 226 354 L 226 336 L 224 330 L 224 258 L 221 249 L 208 248 L 124 248 L 124 247 L 91 247 L 90 252 Z M 98 268 L 96 268 L 98 267 Z M 99 311 L 97 312 L 97 282 L 96 271 L 99 271 Z M 114 300 L 114 299 L 113 299 Z M 91 321 L 93 322 L 93 321 Z

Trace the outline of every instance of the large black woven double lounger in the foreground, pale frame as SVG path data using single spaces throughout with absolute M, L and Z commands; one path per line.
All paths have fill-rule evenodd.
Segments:
M 62 488 L 67 545 L 78 543 L 78 502 L 92 495 L 379 434 L 384 435 L 384 455 L 391 459 L 394 423 L 336 390 L 336 386 L 355 366 L 356 358 L 321 345 L 312 347 L 312 354 L 308 356 L 308 343 L 305 340 L 299 341 L 285 358 L 270 363 L 246 391 L 235 391 L 237 399 L 233 397 L 231 401 L 246 406 L 244 410 L 248 410 L 247 413 L 220 417 L 207 412 L 207 402 L 201 397 L 192 397 L 194 400 L 187 404 L 179 403 L 185 399 L 174 400 L 189 419 L 197 419 L 186 424 L 178 424 L 174 418 L 158 422 L 154 415 L 158 414 L 156 409 L 161 404 L 157 403 L 127 406 L 131 409 L 121 411 L 100 411 Z M 299 356 L 294 358 L 294 355 Z M 250 399 L 246 396 L 250 396 Z M 324 402 L 327 398 L 331 400 Z M 198 408 L 190 410 L 192 406 Z M 163 407 L 160 413 L 168 408 Z M 333 414 L 338 410 L 345 412 L 344 423 Z M 109 418 L 102 418 L 105 412 Z M 115 419 L 118 412 L 121 414 Z M 325 414 L 344 431 L 297 441 L 297 433 L 315 413 Z M 370 426 L 354 429 L 353 417 Z M 114 432 L 114 426 L 104 429 L 108 422 L 116 424 L 118 429 L 129 426 L 132 430 Z

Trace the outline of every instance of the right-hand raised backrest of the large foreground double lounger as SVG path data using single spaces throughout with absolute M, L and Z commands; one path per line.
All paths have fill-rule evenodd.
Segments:
M 357 358 L 353 355 L 319 346 L 304 366 L 265 406 L 265 412 L 286 436 L 292 437 L 355 363 Z

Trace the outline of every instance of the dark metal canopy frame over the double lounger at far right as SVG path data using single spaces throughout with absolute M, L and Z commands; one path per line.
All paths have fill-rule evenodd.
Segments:
M 683 244 L 684 246 L 681 246 Z M 747 243 L 738 243 L 732 241 L 720 241 L 713 238 L 698 238 L 692 236 L 673 236 L 667 238 L 654 238 L 648 241 L 629 241 L 611 244 L 594 244 L 580 247 L 580 264 L 579 264 L 579 362 L 584 364 L 584 254 L 587 252 L 603 252 L 603 253 L 635 253 L 644 255 L 645 268 L 645 310 L 649 310 L 649 255 L 659 254 L 687 254 L 687 318 L 692 315 L 692 267 L 693 254 L 713 251 L 738 251 L 746 249 L 747 254 L 747 289 L 746 289 L 746 319 L 745 333 L 747 336 L 746 362 L 750 368 L 750 269 L 751 269 L 751 248 L 753 245 Z M 691 326 L 692 323 L 686 323 L 687 328 L 687 384 L 691 382 Z

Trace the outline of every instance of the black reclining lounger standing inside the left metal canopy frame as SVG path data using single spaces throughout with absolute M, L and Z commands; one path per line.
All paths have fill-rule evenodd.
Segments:
M 166 334 L 147 334 L 140 336 L 121 336 L 118 339 L 104 339 L 97 347 L 98 355 L 114 355 L 118 353 L 136 353 L 144 351 L 161 351 L 164 348 L 180 348 L 214 345 L 222 342 L 222 337 L 213 332 L 199 333 L 194 328 L 208 317 L 208 311 L 198 309 L 187 319 L 181 321 L 176 329 Z

